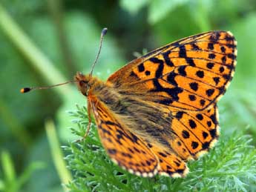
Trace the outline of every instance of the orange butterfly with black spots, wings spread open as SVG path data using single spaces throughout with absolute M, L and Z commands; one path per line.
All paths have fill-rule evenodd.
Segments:
M 134 59 L 107 82 L 77 73 L 113 162 L 138 176 L 186 176 L 186 161 L 220 134 L 216 102 L 234 75 L 236 47 L 232 33 L 211 31 Z

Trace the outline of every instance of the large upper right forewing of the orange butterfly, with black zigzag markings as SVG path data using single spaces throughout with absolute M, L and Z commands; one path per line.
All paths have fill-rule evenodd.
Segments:
M 223 96 L 232 80 L 236 44 L 226 31 L 190 36 L 125 65 L 108 84 L 151 102 L 203 110 Z

